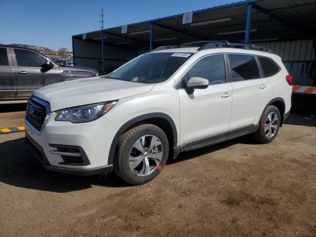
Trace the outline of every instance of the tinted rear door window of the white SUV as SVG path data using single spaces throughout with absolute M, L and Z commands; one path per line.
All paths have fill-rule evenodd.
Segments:
M 232 81 L 260 78 L 259 68 L 254 56 L 230 54 Z

